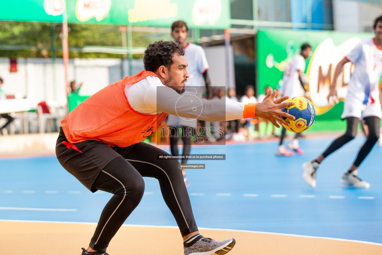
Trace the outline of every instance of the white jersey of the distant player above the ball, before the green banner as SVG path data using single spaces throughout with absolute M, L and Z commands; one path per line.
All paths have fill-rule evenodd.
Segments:
M 304 72 L 305 58 L 300 54 L 294 56 L 288 63 L 283 74 L 283 96 L 303 96 L 304 90 L 298 79 L 298 71 Z

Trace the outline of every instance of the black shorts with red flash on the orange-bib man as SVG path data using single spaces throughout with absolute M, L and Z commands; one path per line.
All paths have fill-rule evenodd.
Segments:
M 61 165 L 91 192 L 93 182 L 101 170 L 117 157 L 125 157 L 134 146 L 112 147 L 96 140 L 86 140 L 71 144 L 60 127 L 56 143 L 56 156 Z

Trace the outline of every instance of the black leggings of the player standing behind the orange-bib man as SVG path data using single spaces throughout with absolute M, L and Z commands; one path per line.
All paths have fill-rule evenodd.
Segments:
M 193 133 L 193 127 L 170 127 L 170 149 L 172 155 L 179 155 L 178 151 L 178 129 L 181 130 L 181 138 L 183 140 L 183 157 L 181 160 L 182 164 L 187 163 L 187 158 L 184 156 L 188 156 L 191 152 L 191 134 Z

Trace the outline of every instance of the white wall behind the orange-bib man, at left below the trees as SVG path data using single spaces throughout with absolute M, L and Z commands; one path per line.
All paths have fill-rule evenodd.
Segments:
M 133 59 L 132 73 L 143 69 L 143 60 Z M 127 75 L 128 62 L 119 58 L 75 58 L 69 61 L 69 81 L 83 82 L 80 95 L 92 95 Z M 2 88 L 6 94 L 16 98 L 26 97 L 36 104 L 45 100 L 48 105 L 65 105 L 67 102 L 61 58 L 56 60 L 55 67 L 52 59 L 18 58 L 15 73 L 10 73 L 9 58 L 0 58 L 0 77 L 4 80 Z

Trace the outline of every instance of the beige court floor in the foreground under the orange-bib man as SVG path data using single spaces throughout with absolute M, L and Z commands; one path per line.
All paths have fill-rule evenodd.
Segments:
M 0 253 L 6 255 L 80 255 L 94 224 L 0 221 Z M 382 246 L 344 240 L 202 229 L 215 240 L 230 237 L 229 255 L 382 255 Z M 110 255 L 182 255 L 179 229 L 122 226 L 109 245 Z

